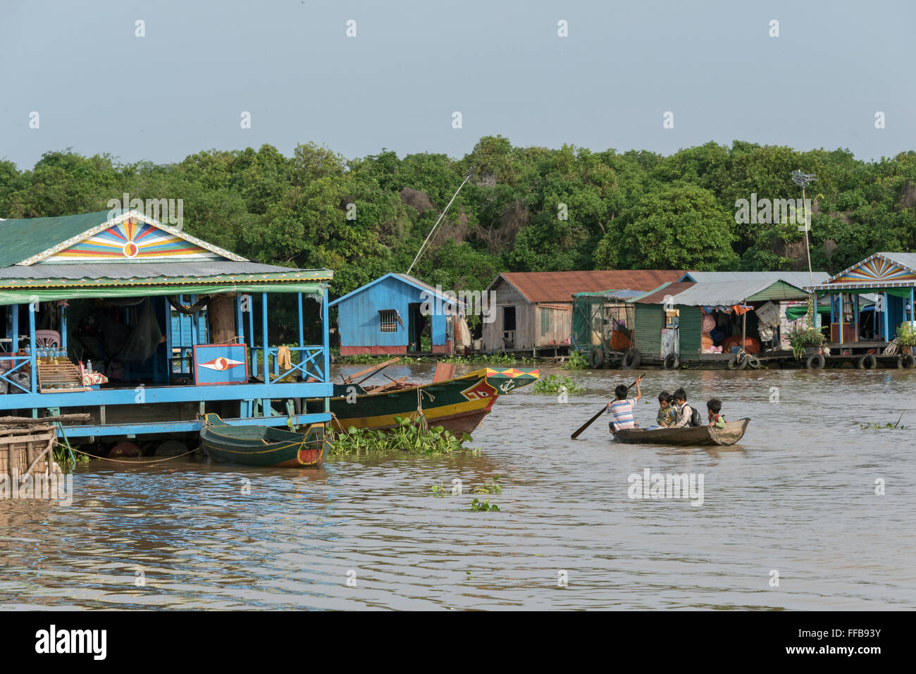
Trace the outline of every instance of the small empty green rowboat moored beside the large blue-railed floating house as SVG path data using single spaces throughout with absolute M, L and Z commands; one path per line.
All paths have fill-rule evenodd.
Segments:
M 201 447 L 217 463 L 261 467 L 318 467 L 324 454 L 324 425 L 309 425 L 293 433 L 265 425 L 229 425 L 218 414 L 207 414 Z

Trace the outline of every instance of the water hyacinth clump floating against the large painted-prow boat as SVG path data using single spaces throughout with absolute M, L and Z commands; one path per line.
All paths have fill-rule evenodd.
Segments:
M 416 419 L 409 416 L 395 416 L 398 424 L 390 430 L 372 430 L 350 426 L 344 433 L 338 433 L 330 441 L 328 454 L 342 455 L 379 455 L 394 452 L 409 452 L 433 456 L 453 454 L 463 451 L 463 442 L 470 440 L 468 433 L 456 436 L 441 425 L 430 427 L 425 417 Z

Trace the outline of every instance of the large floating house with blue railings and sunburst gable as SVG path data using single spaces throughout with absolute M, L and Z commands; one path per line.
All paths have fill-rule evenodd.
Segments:
M 330 420 L 300 410 L 303 398 L 327 410 L 333 390 L 333 271 L 245 260 L 139 211 L 0 219 L 0 237 L 0 415 L 89 414 L 66 435 L 104 441 L 196 433 L 211 412 L 243 425 Z M 268 339 L 268 298 L 281 297 L 298 307 L 289 350 Z M 305 341 L 304 302 L 321 343 Z

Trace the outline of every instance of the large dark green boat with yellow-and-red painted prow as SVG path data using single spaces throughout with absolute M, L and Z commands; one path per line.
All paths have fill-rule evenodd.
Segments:
M 377 387 L 334 384 L 331 425 L 335 430 L 394 428 L 395 416 L 415 417 L 422 410 L 430 425 L 453 433 L 471 433 L 493 409 L 496 398 L 538 379 L 538 370 L 484 368 L 428 384 L 391 381 Z M 397 385 L 396 385 L 397 384 Z M 308 401 L 309 412 L 323 401 Z

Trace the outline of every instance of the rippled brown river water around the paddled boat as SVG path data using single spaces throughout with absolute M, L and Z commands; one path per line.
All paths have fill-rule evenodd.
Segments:
M 386 371 L 428 381 L 431 370 Z M 682 385 L 704 416 L 715 395 L 727 419 L 751 417 L 747 435 L 735 447 L 616 445 L 602 417 L 573 441 L 607 391 L 633 379 L 598 370 L 573 372 L 586 391 L 567 403 L 530 387 L 501 397 L 470 443 L 476 457 L 333 459 L 322 470 L 93 461 L 76 470 L 69 507 L 0 502 L 0 608 L 916 604 L 916 373 L 645 376 L 642 425 L 660 389 Z M 859 426 L 900 413 L 903 430 Z M 702 476 L 702 504 L 629 498 L 628 476 L 646 469 Z M 500 512 L 467 512 L 471 487 L 496 475 L 503 492 L 483 498 Z M 456 478 L 462 495 L 429 495 Z

